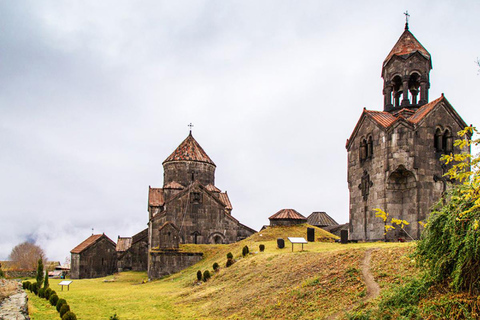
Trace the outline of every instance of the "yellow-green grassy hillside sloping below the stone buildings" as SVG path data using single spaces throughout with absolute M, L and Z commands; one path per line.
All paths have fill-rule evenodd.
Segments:
M 366 287 L 361 262 L 372 252 L 371 270 L 383 288 L 401 283 L 416 273 L 406 255 L 411 244 L 334 243 L 331 234 L 316 229 L 316 241 L 296 245 L 294 252 L 278 249 L 276 239 L 306 237 L 306 225 L 267 228 L 230 245 L 183 245 L 181 250 L 204 252 L 204 259 L 180 273 L 145 282 L 144 272 L 74 280 L 70 291 L 59 291 L 78 319 L 326 319 L 343 316 L 343 310 L 365 307 Z M 260 244 L 265 251 L 259 252 Z M 241 256 L 248 245 L 250 255 Z M 298 247 L 297 247 L 298 246 Z M 236 263 L 226 268 L 226 254 Z M 221 268 L 213 272 L 217 262 Z M 198 270 L 210 270 L 212 278 L 198 283 Z M 32 319 L 58 319 L 45 300 L 31 298 Z

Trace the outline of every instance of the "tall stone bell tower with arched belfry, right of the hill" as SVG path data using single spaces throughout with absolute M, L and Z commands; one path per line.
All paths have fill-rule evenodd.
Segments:
M 430 54 L 406 24 L 382 65 L 383 111 L 364 109 L 346 143 L 350 239 L 384 238 L 375 208 L 410 222 L 389 238 L 418 238 L 418 222 L 447 188 L 439 159 L 462 151 L 453 141 L 466 123 L 443 94 L 429 101 L 431 69 Z

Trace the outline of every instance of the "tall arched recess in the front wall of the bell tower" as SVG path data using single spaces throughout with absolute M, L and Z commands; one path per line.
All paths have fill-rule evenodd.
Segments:
M 405 226 L 405 231 L 412 237 L 412 229 L 418 229 L 417 223 L 417 180 L 412 171 L 400 165 L 392 172 L 387 181 L 387 205 L 386 212 L 391 218 L 406 220 L 410 224 Z M 395 230 L 387 233 L 387 239 L 410 238 L 405 231 L 395 226 Z M 412 228 L 413 227 L 413 228 Z

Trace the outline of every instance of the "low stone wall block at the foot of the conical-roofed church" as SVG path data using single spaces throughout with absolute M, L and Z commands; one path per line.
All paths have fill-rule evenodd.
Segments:
M 202 260 L 201 252 L 151 251 L 148 278 L 158 279 L 182 271 Z

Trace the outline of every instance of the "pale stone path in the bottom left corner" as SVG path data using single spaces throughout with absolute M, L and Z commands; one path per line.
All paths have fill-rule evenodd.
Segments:
M 0 320 L 29 320 L 28 298 L 15 280 L 0 279 Z

